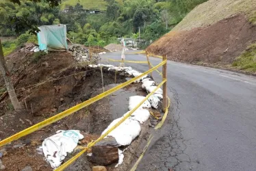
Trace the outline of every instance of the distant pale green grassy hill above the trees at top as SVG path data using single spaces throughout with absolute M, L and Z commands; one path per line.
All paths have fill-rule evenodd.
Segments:
M 64 9 L 65 5 L 75 6 L 77 3 L 83 5 L 84 9 L 107 9 L 107 2 L 105 2 L 104 0 L 66 0 L 63 3 L 61 3 L 60 7 Z

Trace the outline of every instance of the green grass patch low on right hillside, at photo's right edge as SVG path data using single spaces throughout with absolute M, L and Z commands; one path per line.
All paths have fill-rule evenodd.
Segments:
M 256 44 L 251 44 L 232 64 L 233 67 L 256 73 Z

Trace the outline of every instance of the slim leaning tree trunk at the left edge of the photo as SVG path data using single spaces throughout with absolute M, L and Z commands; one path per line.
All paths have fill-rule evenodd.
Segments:
M 14 87 L 12 85 L 12 80 L 11 80 L 11 75 L 10 72 L 8 71 L 8 68 L 5 64 L 5 59 L 3 57 L 3 49 L 2 49 L 2 44 L 0 40 L 0 68 L 3 74 L 3 78 L 5 81 L 5 86 L 8 91 L 8 94 L 10 96 L 12 105 L 15 110 L 21 109 L 21 104 L 18 102 L 18 98 L 16 96 L 16 93 L 14 91 Z

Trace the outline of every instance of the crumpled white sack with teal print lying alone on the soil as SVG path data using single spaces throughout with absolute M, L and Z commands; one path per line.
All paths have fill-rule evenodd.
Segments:
M 44 157 L 52 168 L 59 167 L 67 153 L 73 152 L 78 141 L 84 138 L 78 130 L 60 130 L 56 133 L 42 142 Z

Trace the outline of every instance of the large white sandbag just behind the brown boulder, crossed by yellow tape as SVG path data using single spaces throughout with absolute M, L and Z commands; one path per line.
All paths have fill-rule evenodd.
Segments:
M 103 131 L 101 135 L 111 129 L 122 118 L 113 120 L 113 122 L 107 127 L 107 129 Z M 128 146 L 129 144 L 131 144 L 132 140 L 140 135 L 140 131 L 140 123 L 136 120 L 131 120 L 130 118 L 128 118 L 118 127 L 116 127 L 116 129 L 110 132 L 107 137 L 114 137 L 119 146 Z

